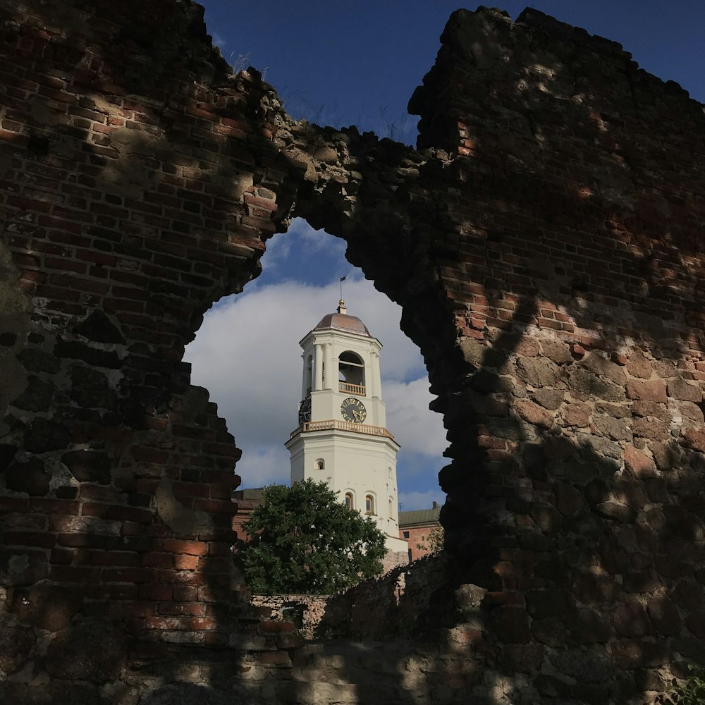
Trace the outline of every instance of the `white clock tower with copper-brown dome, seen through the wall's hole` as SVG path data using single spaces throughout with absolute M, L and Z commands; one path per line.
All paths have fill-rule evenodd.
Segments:
M 407 561 L 399 538 L 396 454 L 386 429 L 379 374 L 381 343 L 341 299 L 300 342 L 303 382 L 298 428 L 284 444 L 291 482 L 327 482 L 348 507 L 372 518 L 395 563 Z

